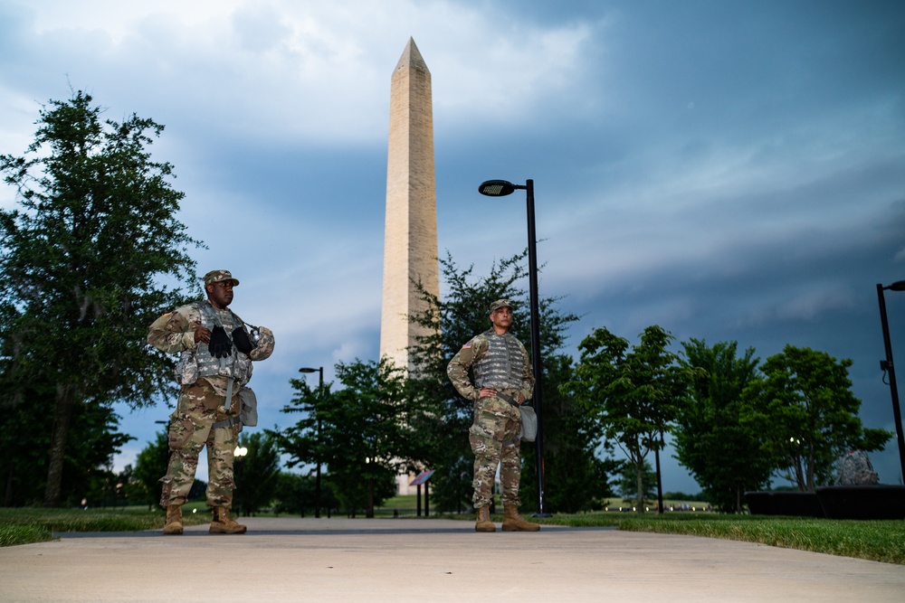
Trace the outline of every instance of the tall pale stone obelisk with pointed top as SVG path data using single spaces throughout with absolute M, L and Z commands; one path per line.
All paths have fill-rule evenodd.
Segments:
M 390 134 L 386 161 L 384 293 L 380 355 L 414 367 L 406 348 L 425 330 L 409 321 L 425 305 L 414 283 L 439 295 L 437 193 L 433 176 L 431 72 L 409 39 L 390 88 Z

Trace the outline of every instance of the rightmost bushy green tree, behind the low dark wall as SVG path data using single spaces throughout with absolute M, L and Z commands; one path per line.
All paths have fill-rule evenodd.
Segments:
M 761 434 L 776 474 L 800 492 L 832 483 L 834 462 L 846 450 L 882 450 L 892 438 L 884 429 L 862 427 L 850 366 L 850 359 L 786 345 L 767 358 L 764 378 L 745 391 L 742 423 Z

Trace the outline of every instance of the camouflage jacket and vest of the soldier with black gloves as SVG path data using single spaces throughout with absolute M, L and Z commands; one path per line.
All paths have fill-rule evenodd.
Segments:
M 252 378 L 252 360 L 264 360 L 270 356 L 273 334 L 261 327 L 261 342 L 250 353 L 242 353 L 233 345 L 231 358 L 217 360 L 205 344 L 195 342 L 195 329 L 199 326 L 213 328 L 214 321 L 219 322 L 227 333 L 236 326 L 244 327 L 242 319 L 231 310 L 216 310 L 204 300 L 181 306 L 157 318 L 148 327 L 148 344 L 161 352 L 180 354 L 176 381 L 181 385 L 190 385 L 201 378 L 210 383 L 219 395 L 226 395 L 229 377 L 233 377 L 239 385 L 246 384 Z

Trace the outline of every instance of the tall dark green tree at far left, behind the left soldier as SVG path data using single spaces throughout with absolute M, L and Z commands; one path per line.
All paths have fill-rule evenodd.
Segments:
M 80 446 L 70 438 L 75 409 L 138 407 L 172 391 L 172 361 L 148 353 L 145 330 L 183 296 L 155 280 L 189 283 L 195 268 L 186 252 L 195 241 L 175 218 L 183 193 L 168 182 L 172 166 L 147 150 L 163 126 L 100 113 L 81 91 L 52 100 L 25 155 L 0 155 L 19 204 L 0 210 L 4 404 L 43 404 L 52 417 L 48 506 L 61 504 L 65 459 Z M 35 382 L 52 399 L 26 400 Z

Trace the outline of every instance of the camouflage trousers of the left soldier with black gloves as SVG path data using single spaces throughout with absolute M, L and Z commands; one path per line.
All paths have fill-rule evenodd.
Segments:
M 233 395 L 231 410 L 239 412 L 238 386 Z M 217 395 L 208 382 L 199 379 L 192 385 L 183 385 L 179 392 L 176 410 L 170 415 L 170 457 L 160 506 L 185 504 L 188 492 L 195 482 L 198 455 L 207 447 L 207 504 L 224 506 L 233 504 L 233 450 L 239 442 L 241 424 L 214 429 L 214 423 L 227 419 L 223 411 L 225 396 Z M 233 415 L 231 415 L 233 416 Z

